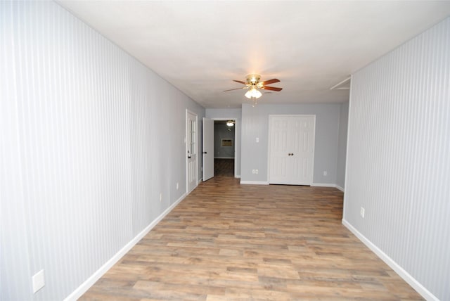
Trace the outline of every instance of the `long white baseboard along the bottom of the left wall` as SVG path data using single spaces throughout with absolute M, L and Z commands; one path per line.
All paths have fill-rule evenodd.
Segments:
M 181 202 L 181 200 L 184 200 L 186 196 L 187 194 L 184 193 L 183 196 L 181 196 L 178 200 L 176 200 L 175 203 L 173 203 L 172 205 L 170 205 L 170 207 L 164 210 L 164 212 L 162 212 L 156 219 L 153 220 L 153 222 L 151 222 L 148 226 L 146 226 L 146 228 L 143 229 L 141 233 L 136 235 L 136 237 L 134 237 L 131 241 L 129 241 L 127 245 L 124 245 L 124 247 L 120 249 L 120 251 L 117 252 L 113 257 L 111 257 L 110 260 L 105 262 L 105 264 L 103 264 L 103 266 L 101 266 L 100 269 L 98 269 L 94 274 L 92 274 L 89 278 L 87 278 L 87 280 L 84 281 L 81 286 L 79 286 L 70 295 L 68 295 L 68 297 L 66 297 L 64 301 L 72 301 L 72 300 L 75 301 L 79 297 L 81 297 L 84 293 L 86 293 L 86 291 L 89 290 L 89 288 L 91 288 L 91 286 L 93 286 L 94 283 L 96 283 L 96 281 L 101 278 L 101 276 L 103 276 L 111 267 L 113 267 L 113 265 L 116 264 L 120 260 L 120 258 L 122 258 L 125 254 L 127 254 L 127 252 L 131 250 L 131 248 L 133 248 L 134 245 L 136 245 L 136 243 L 139 243 L 139 241 L 141 241 L 141 239 L 144 236 L 146 236 L 146 234 L 150 232 L 150 230 L 153 229 L 153 227 L 156 226 L 161 221 L 161 219 L 163 219 L 169 212 L 171 212 L 174 209 L 174 207 Z

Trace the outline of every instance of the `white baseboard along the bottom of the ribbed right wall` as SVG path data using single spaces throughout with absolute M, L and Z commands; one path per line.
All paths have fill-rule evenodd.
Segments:
M 385 262 L 388 266 L 390 266 L 391 269 L 393 269 L 401 278 L 403 278 L 404 281 L 406 281 L 412 288 L 414 288 L 422 297 L 425 298 L 425 300 L 436 300 L 439 301 L 439 299 L 433 295 L 429 290 L 427 290 L 422 284 L 420 284 L 416 278 L 411 276 L 407 271 L 405 271 L 402 267 L 397 264 L 397 262 L 394 262 L 391 257 L 389 257 L 385 252 L 380 250 L 376 245 L 374 245 L 371 241 L 369 241 L 366 236 L 361 234 L 352 224 L 347 222 L 345 219 L 342 219 L 342 224 L 347 227 L 354 235 L 359 238 L 360 241 L 364 243 L 364 245 L 367 246 L 367 248 L 371 249 L 372 252 L 374 252 L 378 257 L 380 257 L 383 262 Z

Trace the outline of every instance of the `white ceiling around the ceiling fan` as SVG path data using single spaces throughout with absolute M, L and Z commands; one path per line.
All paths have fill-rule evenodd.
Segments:
M 338 82 L 450 15 L 450 1 L 58 1 L 205 108 L 340 103 Z

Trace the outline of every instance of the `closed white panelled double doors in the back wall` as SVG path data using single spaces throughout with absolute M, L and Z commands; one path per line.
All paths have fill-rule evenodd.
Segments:
M 316 117 L 269 117 L 269 183 L 311 185 Z

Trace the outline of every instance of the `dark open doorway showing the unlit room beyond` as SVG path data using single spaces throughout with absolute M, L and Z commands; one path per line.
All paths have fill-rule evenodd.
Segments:
M 234 177 L 236 120 L 214 120 L 214 175 Z

